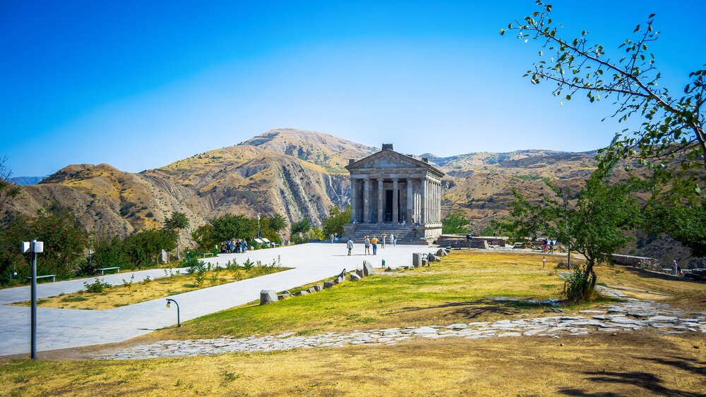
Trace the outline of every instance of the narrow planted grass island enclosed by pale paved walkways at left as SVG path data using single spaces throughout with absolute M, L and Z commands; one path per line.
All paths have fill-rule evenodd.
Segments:
M 287 270 L 287 267 L 252 267 L 243 269 L 222 269 L 204 271 L 201 283 L 197 281 L 196 274 L 178 274 L 172 269 L 164 269 L 164 277 L 160 279 L 133 283 L 130 278 L 123 279 L 123 283 L 105 288 L 102 292 L 79 291 L 57 295 L 51 298 L 37 300 L 40 307 L 58 307 L 60 309 L 107 310 L 114 307 L 134 305 L 165 296 L 177 295 L 201 288 L 219 286 L 234 281 L 251 279 L 253 277 L 273 274 Z M 98 277 L 100 279 L 100 277 Z M 14 303 L 16 306 L 29 306 L 30 301 Z

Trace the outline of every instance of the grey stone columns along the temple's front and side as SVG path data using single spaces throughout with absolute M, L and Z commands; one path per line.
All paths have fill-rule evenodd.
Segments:
M 377 223 L 381 224 L 384 221 L 384 201 L 385 201 L 385 189 L 383 186 L 383 178 L 376 178 L 378 184 L 378 200 L 377 205 Z M 400 178 L 390 178 L 393 181 L 393 208 L 392 216 L 393 223 L 396 223 L 400 219 L 399 207 L 397 202 L 399 199 L 400 189 L 399 181 Z M 363 205 L 361 208 L 358 207 L 358 181 L 360 179 L 351 178 L 351 217 L 352 219 L 358 219 L 362 215 L 362 221 L 366 222 L 371 219 L 371 183 L 373 183 L 373 178 L 363 178 Z M 417 179 L 405 178 L 407 184 L 407 210 L 405 212 L 404 218 L 408 222 L 419 222 L 422 224 L 441 222 L 441 183 L 438 181 L 433 181 L 431 179 Z M 418 188 L 414 189 L 414 185 L 417 183 Z M 362 210 L 362 214 L 359 214 L 359 209 Z

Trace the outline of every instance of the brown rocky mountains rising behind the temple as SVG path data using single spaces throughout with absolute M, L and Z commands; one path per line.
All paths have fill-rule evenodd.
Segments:
M 349 202 L 350 183 L 343 168 L 348 159 L 377 151 L 333 135 L 282 128 L 140 173 L 108 164 L 66 166 L 37 185 L 24 186 L 11 210 L 32 216 L 56 202 L 73 207 L 89 231 L 121 235 L 160 226 L 173 211 L 184 212 L 193 228 L 228 212 L 279 213 L 290 222 L 307 218 L 319 225 L 332 204 Z M 512 188 L 527 197 L 549 193 L 544 180 L 579 188 L 596 166 L 595 154 L 532 149 L 420 157 L 447 174 L 443 213 L 461 209 L 472 219 L 474 233 L 479 233 L 491 220 L 508 214 Z M 664 247 L 665 242 L 640 238 L 632 250 L 665 259 L 678 251 L 674 255 L 686 260 L 686 251 L 664 252 L 655 244 Z

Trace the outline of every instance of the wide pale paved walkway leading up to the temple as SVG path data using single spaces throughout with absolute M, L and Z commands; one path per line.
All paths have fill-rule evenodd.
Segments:
M 313 283 L 333 277 L 342 269 L 356 269 L 369 259 L 374 267 L 381 267 L 381 260 L 397 267 L 412 264 L 413 252 L 431 252 L 432 248 L 419 245 L 388 245 L 379 249 L 377 256 L 361 255 L 362 245 L 354 251 L 358 255 L 347 256 L 344 244 L 313 243 L 293 247 L 272 248 L 246 252 L 245 254 L 225 254 L 216 258 L 203 259 L 213 264 L 225 264 L 237 258 L 239 263 L 250 258 L 253 262 L 272 263 L 280 256 L 282 267 L 294 269 L 275 274 L 222 284 L 174 295 L 181 307 L 181 321 L 201 317 L 205 314 L 226 310 L 260 298 L 262 289 L 283 291 L 289 288 Z M 155 279 L 164 276 L 163 269 L 133 271 L 101 276 L 112 284 L 120 284 L 122 279 L 135 275 L 135 281 L 145 277 Z M 92 282 L 95 277 L 56 283 L 42 283 L 37 286 L 39 297 L 72 293 L 83 290 L 83 282 Z M 0 355 L 28 353 L 30 350 L 30 308 L 4 306 L 7 303 L 28 300 L 28 287 L 0 290 Z M 70 310 L 40 307 L 37 310 L 37 350 L 54 350 L 90 346 L 100 343 L 126 341 L 155 329 L 177 323 L 177 310 L 165 307 L 164 298 L 149 300 L 136 305 L 116 307 L 111 310 Z M 41 357 L 41 355 L 40 355 Z

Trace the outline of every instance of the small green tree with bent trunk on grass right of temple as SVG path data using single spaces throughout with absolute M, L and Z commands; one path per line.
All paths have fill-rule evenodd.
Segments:
M 516 236 L 551 236 L 584 255 L 587 265 L 576 280 L 580 289 L 571 298 L 588 299 L 597 281 L 595 264 L 608 262 L 611 254 L 632 239 L 626 229 L 640 224 L 640 207 L 633 197 L 640 184 L 608 181 L 604 171 L 596 171 L 576 194 L 550 187 L 555 197 L 543 197 L 537 204 L 515 192 L 510 219 L 501 224 Z M 537 214 L 541 214 L 541 221 L 534 218 Z

